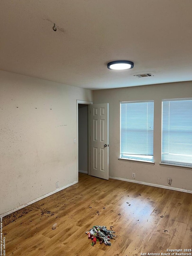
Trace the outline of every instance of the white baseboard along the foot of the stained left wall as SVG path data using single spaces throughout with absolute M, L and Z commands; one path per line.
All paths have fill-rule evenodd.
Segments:
M 65 188 L 68 188 L 68 187 L 70 187 L 70 186 L 76 184 L 77 182 L 78 182 L 78 181 L 74 181 L 74 182 L 72 182 L 72 183 L 70 183 L 70 184 L 68 184 L 68 185 L 66 185 L 66 186 L 64 186 L 64 187 L 62 187 L 62 188 L 58 188 L 58 189 L 56 189 L 56 190 L 54 190 L 54 191 L 52 191 L 52 192 L 49 192 L 48 194 L 45 194 L 45 195 L 43 195 L 43 196 L 41 196 L 41 197 L 36 198 L 36 199 L 34 199 L 34 200 L 32 200 L 32 201 L 30 201 L 30 202 L 28 202 L 28 203 L 25 203 L 25 204 L 23 204 L 23 205 L 21 205 L 21 206 L 19 206 L 19 207 L 13 208 L 13 209 L 11 209 L 11 210 L 9 210 L 9 211 L 7 211 L 7 212 L 1 214 L 0 217 L 2 218 L 2 217 L 6 216 L 6 215 L 8 215 L 8 214 L 10 214 L 10 213 L 16 212 L 16 211 L 18 211 L 18 210 L 20 210 L 20 209 L 22 209 L 22 208 L 24 208 L 24 207 L 26 207 L 26 206 L 32 204 L 32 203 L 35 203 L 35 202 L 37 202 L 37 201 L 39 201 L 39 200 L 41 200 L 41 199 L 44 199 L 45 197 L 48 197 L 48 196 L 50 196 L 50 195 L 52 195 L 52 194 L 55 194 L 55 193 L 57 193 L 58 191 L 61 191 L 61 190 L 65 189 Z

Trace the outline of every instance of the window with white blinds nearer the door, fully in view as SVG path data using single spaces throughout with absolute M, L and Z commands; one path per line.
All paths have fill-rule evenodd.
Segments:
M 153 162 L 154 101 L 121 102 L 120 158 Z

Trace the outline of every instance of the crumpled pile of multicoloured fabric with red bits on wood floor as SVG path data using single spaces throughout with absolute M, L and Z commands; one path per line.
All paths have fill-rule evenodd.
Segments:
M 110 239 L 115 239 L 115 231 L 107 230 L 105 226 L 93 226 L 89 231 L 85 232 L 88 235 L 88 239 L 92 240 L 91 245 L 94 246 L 96 242 L 105 243 L 105 245 L 111 245 Z

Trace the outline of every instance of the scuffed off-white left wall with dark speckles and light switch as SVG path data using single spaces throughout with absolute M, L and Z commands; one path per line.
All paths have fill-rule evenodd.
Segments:
M 88 89 L 0 71 L 0 214 L 77 181 L 76 100 Z

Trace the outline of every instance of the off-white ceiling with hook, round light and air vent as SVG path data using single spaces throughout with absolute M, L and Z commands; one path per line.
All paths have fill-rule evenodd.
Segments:
M 192 0 L 1 0 L 0 69 L 88 89 L 192 80 L 191 13 Z M 107 69 L 120 59 L 134 68 Z

